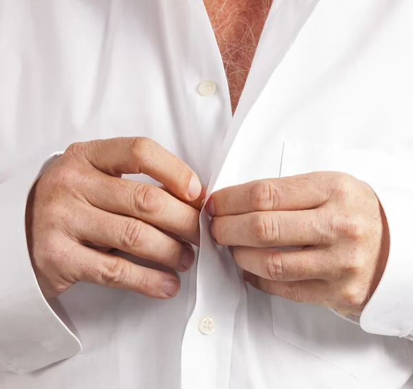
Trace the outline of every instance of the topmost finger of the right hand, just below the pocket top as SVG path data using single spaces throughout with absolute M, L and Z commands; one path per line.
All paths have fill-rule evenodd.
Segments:
M 247 182 L 212 193 L 209 215 L 239 215 L 254 211 L 298 211 L 318 207 L 328 200 L 329 172 Z

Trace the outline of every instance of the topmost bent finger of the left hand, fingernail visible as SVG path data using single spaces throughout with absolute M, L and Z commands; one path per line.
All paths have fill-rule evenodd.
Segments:
M 189 166 L 149 138 L 112 138 L 74 143 L 69 153 L 81 149 L 96 169 L 111 176 L 147 174 L 184 200 L 200 196 L 202 185 Z

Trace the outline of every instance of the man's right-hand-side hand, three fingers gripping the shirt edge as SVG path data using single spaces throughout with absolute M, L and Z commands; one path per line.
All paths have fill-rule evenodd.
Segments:
M 359 314 L 383 274 L 389 232 L 377 196 L 348 174 L 315 172 L 212 194 L 211 234 L 266 293 Z M 286 249 L 288 247 L 288 249 Z

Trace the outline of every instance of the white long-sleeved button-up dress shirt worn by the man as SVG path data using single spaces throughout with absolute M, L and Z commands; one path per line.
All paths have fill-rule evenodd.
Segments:
M 0 0 L 0 388 L 413 388 L 412 18 L 411 0 L 274 0 L 232 117 L 202 0 Z M 368 182 L 391 248 L 360 324 L 246 286 L 205 213 L 177 297 L 79 283 L 46 302 L 27 193 L 54 151 L 116 136 L 156 140 L 208 193 Z

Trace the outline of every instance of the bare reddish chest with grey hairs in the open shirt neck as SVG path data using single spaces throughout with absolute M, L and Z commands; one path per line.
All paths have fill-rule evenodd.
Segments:
M 237 107 L 272 0 L 204 0 Z

